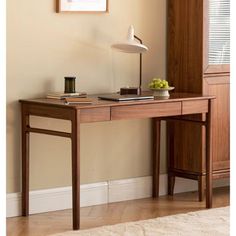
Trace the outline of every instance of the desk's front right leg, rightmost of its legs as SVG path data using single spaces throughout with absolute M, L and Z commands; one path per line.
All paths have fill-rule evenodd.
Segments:
M 212 117 L 213 100 L 209 100 L 206 114 L 206 208 L 212 208 Z

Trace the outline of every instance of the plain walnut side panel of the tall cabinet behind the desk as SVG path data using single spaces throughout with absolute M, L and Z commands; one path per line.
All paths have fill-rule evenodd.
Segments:
M 205 44 L 202 0 L 168 0 L 167 78 L 176 92 L 202 93 Z M 191 108 L 190 108 L 191 109 Z M 168 123 L 169 146 L 174 150 L 169 172 L 175 169 L 201 175 L 203 128 L 190 123 Z M 186 175 L 188 177 L 188 175 Z

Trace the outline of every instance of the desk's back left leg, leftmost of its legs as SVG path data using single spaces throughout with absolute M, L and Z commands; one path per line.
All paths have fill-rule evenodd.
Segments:
M 29 215 L 29 114 L 25 106 L 21 106 L 21 151 L 22 151 L 22 216 Z

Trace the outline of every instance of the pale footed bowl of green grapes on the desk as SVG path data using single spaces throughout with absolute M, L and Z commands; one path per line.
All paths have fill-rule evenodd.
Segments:
M 148 87 L 154 92 L 153 95 L 155 97 L 169 97 L 169 91 L 174 89 L 174 87 L 169 86 L 168 81 L 160 78 L 152 79 Z

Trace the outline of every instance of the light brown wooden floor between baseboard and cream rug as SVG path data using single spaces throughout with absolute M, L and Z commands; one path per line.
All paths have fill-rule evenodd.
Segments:
M 229 205 L 229 188 L 214 189 L 213 207 Z M 145 220 L 205 209 L 205 202 L 197 201 L 197 193 L 175 194 L 159 199 L 142 199 L 81 208 L 81 228 Z M 72 228 L 71 210 L 56 211 L 30 217 L 7 219 L 8 236 L 44 236 Z

